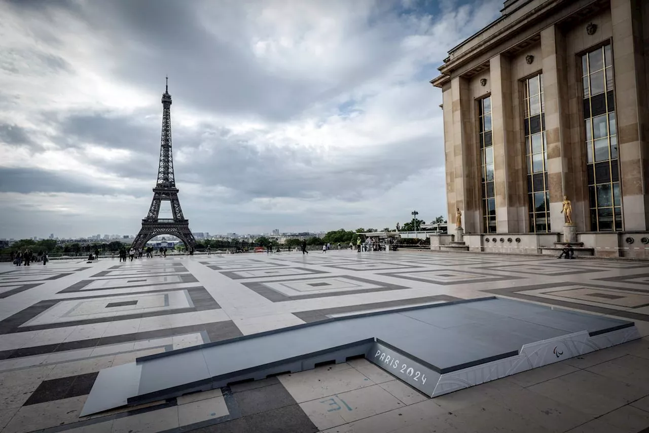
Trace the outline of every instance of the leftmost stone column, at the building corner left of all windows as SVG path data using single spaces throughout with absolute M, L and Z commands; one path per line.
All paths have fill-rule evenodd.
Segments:
M 456 77 L 451 81 L 452 104 L 452 159 L 454 176 L 455 203 L 448 203 L 449 230 L 455 224 L 455 207 L 463 214 L 462 225 L 467 233 L 478 233 L 481 221 L 479 201 L 476 200 L 475 179 L 480 168 L 476 167 L 473 102 L 469 89 L 469 81 Z M 448 144 L 448 142 L 447 142 Z M 450 147 L 450 146 L 449 146 Z M 450 149 L 447 149 L 447 152 Z M 450 155 L 447 155 L 447 161 Z M 447 170 L 448 175 L 448 170 Z M 476 203 L 478 202 L 478 203 Z M 477 206 L 476 206 L 477 204 Z M 451 207 L 454 206 L 452 209 Z

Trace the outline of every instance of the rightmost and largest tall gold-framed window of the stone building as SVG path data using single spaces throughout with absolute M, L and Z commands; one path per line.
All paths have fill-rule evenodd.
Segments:
M 611 45 L 582 56 L 583 118 L 591 230 L 622 230 L 622 192 Z

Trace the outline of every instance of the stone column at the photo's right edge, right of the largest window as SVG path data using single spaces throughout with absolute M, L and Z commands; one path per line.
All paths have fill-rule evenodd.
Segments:
M 611 0 L 624 230 L 649 230 L 649 113 L 641 0 Z

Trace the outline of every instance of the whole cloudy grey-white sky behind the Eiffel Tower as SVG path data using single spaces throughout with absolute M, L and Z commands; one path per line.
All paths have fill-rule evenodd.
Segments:
M 0 237 L 136 234 L 165 75 L 192 231 L 446 213 L 448 49 L 502 0 L 0 0 Z M 161 217 L 170 215 L 163 212 Z

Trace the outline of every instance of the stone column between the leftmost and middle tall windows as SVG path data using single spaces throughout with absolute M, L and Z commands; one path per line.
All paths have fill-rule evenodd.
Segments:
M 489 60 L 491 79 L 491 126 L 493 134 L 493 166 L 496 194 L 496 230 L 498 233 L 523 231 L 519 227 L 520 205 L 517 189 L 522 174 L 516 171 L 517 155 L 520 158 L 520 143 L 517 143 L 513 128 L 511 107 L 511 64 L 509 58 L 497 55 Z

